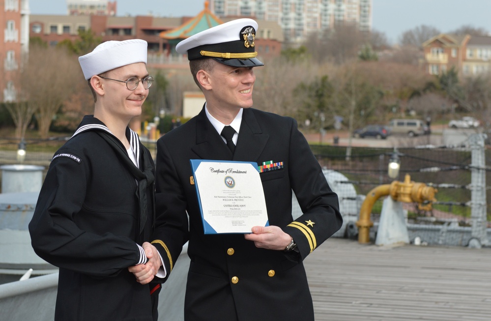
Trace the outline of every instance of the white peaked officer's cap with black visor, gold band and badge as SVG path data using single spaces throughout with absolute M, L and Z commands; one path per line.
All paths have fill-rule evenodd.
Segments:
M 213 58 L 233 67 L 262 66 L 255 51 L 257 29 L 258 23 L 252 19 L 232 20 L 182 40 L 175 50 L 187 53 L 189 60 Z

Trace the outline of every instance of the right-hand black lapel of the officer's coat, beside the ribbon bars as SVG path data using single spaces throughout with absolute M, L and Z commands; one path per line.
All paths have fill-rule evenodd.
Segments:
M 233 160 L 257 161 L 268 139 L 269 134 L 262 131 L 254 112 L 245 108 Z

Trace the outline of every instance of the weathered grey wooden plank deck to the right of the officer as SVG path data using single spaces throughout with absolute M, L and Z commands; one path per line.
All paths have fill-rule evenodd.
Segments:
M 331 238 L 305 260 L 316 321 L 490 321 L 491 249 Z

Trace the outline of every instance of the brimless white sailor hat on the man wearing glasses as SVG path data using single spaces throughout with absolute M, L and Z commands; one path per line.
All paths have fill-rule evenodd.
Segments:
M 146 63 L 147 43 L 141 39 L 106 41 L 79 57 L 85 79 L 136 62 Z

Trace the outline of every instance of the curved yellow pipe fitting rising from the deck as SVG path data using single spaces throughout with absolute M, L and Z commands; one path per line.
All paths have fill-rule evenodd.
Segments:
M 356 222 L 358 227 L 358 243 L 370 242 L 370 228 L 374 225 L 370 218 L 372 207 L 382 196 L 390 195 L 394 201 L 412 203 L 417 202 L 420 209 L 431 210 L 432 204 L 422 205 L 423 202 L 435 202 L 435 193 L 438 191 L 425 183 L 415 183 L 411 181 L 411 176 L 406 174 L 404 182 L 393 181 L 391 184 L 384 184 L 371 190 L 360 208 L 360 218 Z

